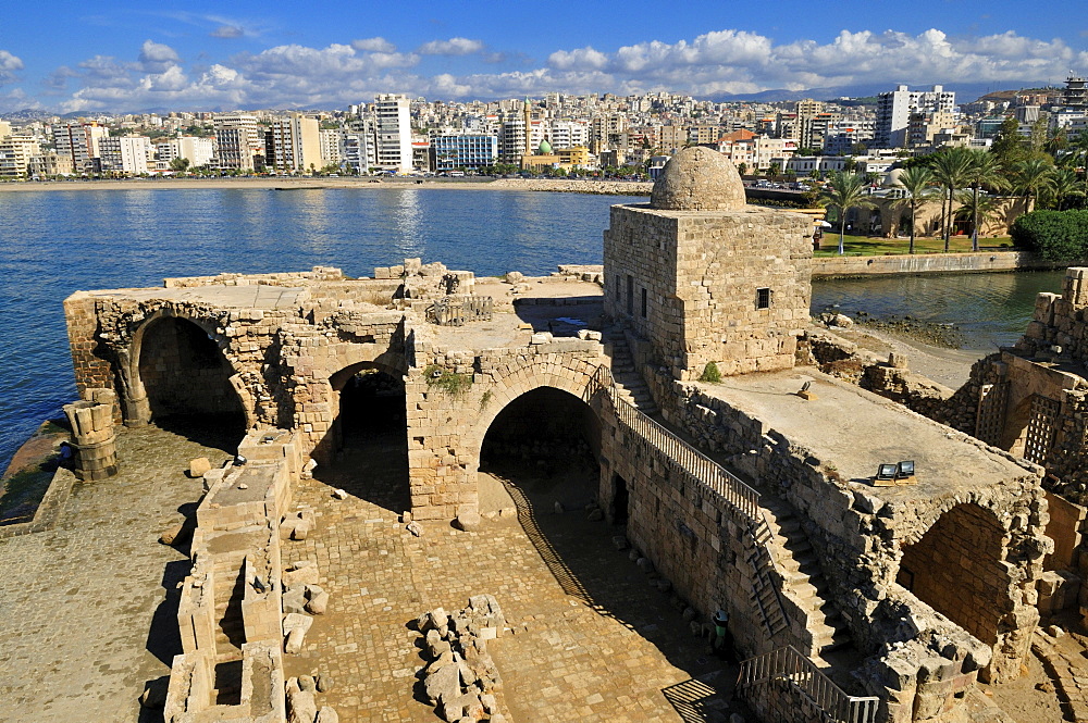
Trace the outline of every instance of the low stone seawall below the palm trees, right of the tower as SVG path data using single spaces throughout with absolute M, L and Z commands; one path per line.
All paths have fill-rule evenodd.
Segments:
M 1000 271 L 1064 269 L 1074 263 L 1046 261 L 1027 251 L 900 253 L 880 257 L 817 257 L 813 278 L 894 274 L 976 274 Z

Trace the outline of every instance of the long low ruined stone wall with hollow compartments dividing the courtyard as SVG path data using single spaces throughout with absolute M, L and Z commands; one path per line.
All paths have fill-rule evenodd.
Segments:
M 213 470 L 197 510 L 177 623 L 168 723 L 282 723 L 283 563 L 280 521 L 302 468 L 297 435 L 254 433 L 245 466 Z

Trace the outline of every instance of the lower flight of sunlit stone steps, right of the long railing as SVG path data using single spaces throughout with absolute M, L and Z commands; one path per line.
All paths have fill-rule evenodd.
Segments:
M 821 666 L 826 666 L 830 663 L 826 658 L 829 653 L 845 650 L 852 643 L 846 621 L 831 602 L 819 560 L 801 529 L 801 522 L 788 506 L 766 496 L 761 501 L 771 532 L 769 546 L 786 577 L 783 588 L 807 615 L 811 655 L 817 664 L 823 659 Z

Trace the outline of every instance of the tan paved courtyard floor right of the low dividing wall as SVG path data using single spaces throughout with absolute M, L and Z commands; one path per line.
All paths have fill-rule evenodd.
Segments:
M 435 721 L 416 697 L 423 660 L 408 623 L 482 593 L 496 596 L 516 632 L 491 644 L 515 721 L 728 719 L 735 669 L 705 655 L 669 596 L 613 547 L 618 531 L 583 512 L 554 513 L 554 479 L 515 477 L 529 493 L 514 490 L 518 520 L 485 521 L 475 533 L 422 523 L 417 538 L 397 523 L 399 474 L 357 450 L 295 497 L 316 511 L 318 531 L 285 543 L 284 560 L 314 560 L 332 598 L 286 673 L 331 674 L 336 686 L 321 700 L 342 720 Z M 332 499 L 337 486 L 353 496 Z

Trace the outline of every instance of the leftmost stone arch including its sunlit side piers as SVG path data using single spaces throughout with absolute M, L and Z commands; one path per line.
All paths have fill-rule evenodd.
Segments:
M 152 352 L 145 349 L 149 337 L 154 352 L 163 354 L 160 363 L 148 358 Z M 252 395 L 227 349 L 228 340 L 215 333 L 214 322 L 172 309 L 150 314 L 135 331 L 127 354 L 120 360 L 126 423 L 147 423 L 156 415 L 177 413 L 238 413 L 244 428 L 255 427 Z M 173 364 L 174 369 L 159 369 L 163 364 Z M 160 376 L 162 371 L 166 373 Z

